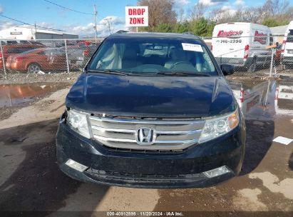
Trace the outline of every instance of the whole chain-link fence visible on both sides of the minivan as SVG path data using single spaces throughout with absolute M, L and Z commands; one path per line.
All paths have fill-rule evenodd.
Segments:
M 205 37 L 219 64 L 235 66 L 237 76 L 293 72 L 293 36 Z M 1 40 L 2 73 L 81 71 L 103 39 Z

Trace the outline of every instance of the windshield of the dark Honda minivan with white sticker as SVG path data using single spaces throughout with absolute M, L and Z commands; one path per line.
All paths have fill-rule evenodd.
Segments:
M 106 39 L 88 70 L 218 75 L 205 46 L 195 39 Z

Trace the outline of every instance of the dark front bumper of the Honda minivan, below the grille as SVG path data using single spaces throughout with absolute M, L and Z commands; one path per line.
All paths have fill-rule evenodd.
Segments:
M 80 136 L 63 122 L 58 127 L 56 145 L 61 171 L 80 181 L 135 188 L 205 187 L 240 173 L 245 126 L 182 153 L 133 153 L 110 151 L 101 143 Z M 68 159 L 88 169 L 77 171 L 65 164 Z M 226 166 L 230 172 L 214 178 L 203 173 L 220 166 Z

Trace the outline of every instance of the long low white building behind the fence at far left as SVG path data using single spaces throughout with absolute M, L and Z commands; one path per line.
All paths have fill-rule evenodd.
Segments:
M 14 26 L 0 31 L 0 39 L 78 39 L 78 35 L 64 34 L 57 31 L 34 29 L 33 27 Z

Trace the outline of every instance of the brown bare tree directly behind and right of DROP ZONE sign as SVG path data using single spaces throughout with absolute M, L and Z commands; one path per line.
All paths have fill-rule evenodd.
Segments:
M 148 29 L 153 31 L 160 24 L 175 26 L 177 14 L 173 9 L 173 0 L 140 0 L 140 6 L 148 6 Z

